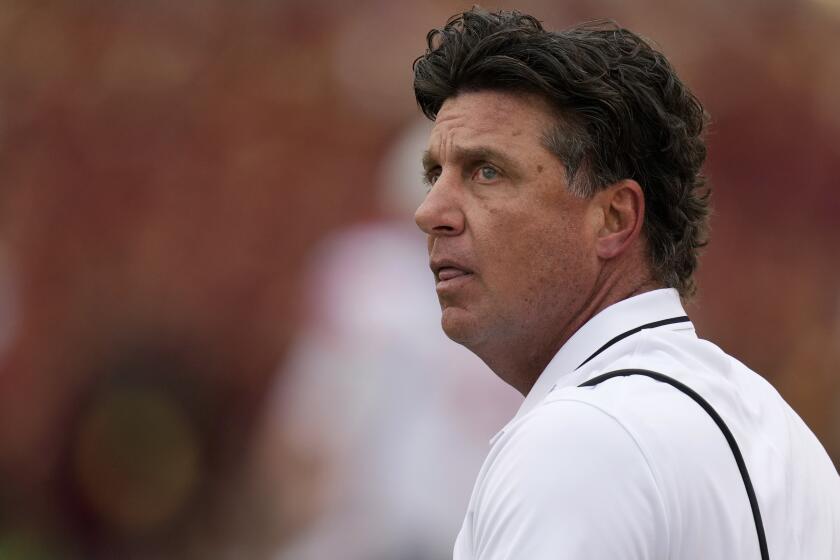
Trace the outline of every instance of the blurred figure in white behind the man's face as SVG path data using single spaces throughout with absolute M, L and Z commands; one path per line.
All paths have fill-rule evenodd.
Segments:
M 381 218 L 313 255 L 309 320 L 270 418 L 295 447 L 321 455 L 323 515 L 279 558 L 447 557 L 487 440 L 515 410 L 515 393 L 437 327 L 411 221 L 428 132 L 409 124 L 386 154 Z

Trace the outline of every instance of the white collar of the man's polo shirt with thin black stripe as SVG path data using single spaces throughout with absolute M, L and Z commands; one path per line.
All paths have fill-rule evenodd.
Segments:
M 582 383 L 588 368 L 575 371 L 587 358 L 616 336 L 655 321 L 685 315 L 677 290 L 663 288 L 614 303 L 589 319 L 566 341 L 528 392 L 516 416 L 507 424 L 531 412 L 555 388 Z M 693 329 L 690 322 L 657 327 L 669 330 Z M 490 443 L 507 429 L 505 426 Z

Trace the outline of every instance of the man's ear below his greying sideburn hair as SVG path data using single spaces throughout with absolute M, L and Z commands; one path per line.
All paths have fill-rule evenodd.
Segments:
M 641 234 L 645 195 L 639 183 L 624 179 L 597 193 L 596 198 L 603 212 L 596 250 L 600 258 L 612 259 L 624 253 Z

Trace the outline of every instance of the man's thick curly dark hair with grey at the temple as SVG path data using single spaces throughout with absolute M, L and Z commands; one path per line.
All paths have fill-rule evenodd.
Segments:
M 414 94 L 434 120 L 450 97 L 496 90 L 536 94 L 557 109 L 543 141 L 570 190 L 592 196 L 633 179 L 645 196 L 643 232 L 657 280 L 692 295 L 707 243 L 706 113 L 662 53 L 612 22 L 543 29 L 516 11 L 458 14 L 414 61 Z

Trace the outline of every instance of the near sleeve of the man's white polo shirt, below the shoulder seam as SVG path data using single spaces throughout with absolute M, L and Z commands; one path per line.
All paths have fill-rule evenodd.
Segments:
M 500 542 L 534 559 L 660 558 L 667 550 L 644 453 L 596 404 L 543 403 L 510 426 L 486 467 L 472 512 L 479 558 L 496 558 L 491 543 Z

